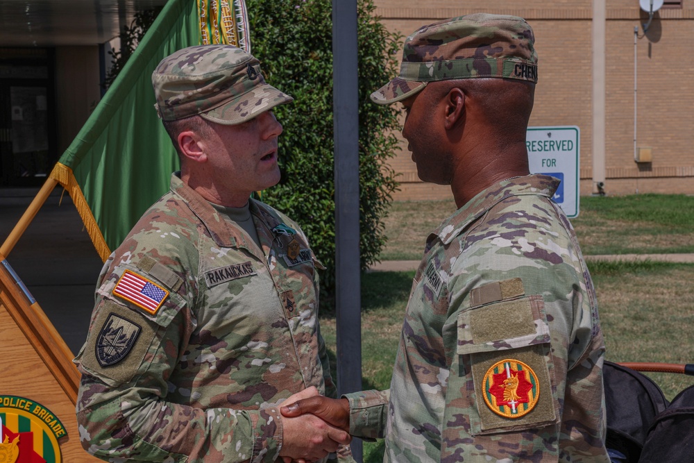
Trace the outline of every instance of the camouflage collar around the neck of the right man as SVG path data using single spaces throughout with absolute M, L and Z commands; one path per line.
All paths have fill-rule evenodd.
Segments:
M 465 203 L 455 214 L 443 221 L 439 228 L 429 235 L 429 239 L 439 237 L 443 244 L 449 244 L 462 230 L 479 217 L 482 217 L 495 204 L 511 196 L 525 196 L 529 194 L 551 198 L 557 191 L 559 183 L 560 180 L 557 180 L 557 178 L 541 174 L 502 180 L 486 188 L 486 190 L 482 190 L 473 199 Z

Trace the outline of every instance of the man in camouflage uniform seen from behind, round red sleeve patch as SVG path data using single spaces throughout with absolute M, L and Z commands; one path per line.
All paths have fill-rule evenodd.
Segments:
M 422 180 L 459 208 L 429 235 L 389 391 L 308 398 L 311 412 L 384 437 L 387 462 L 607 462 L 604 342 L 593 283 L 559 180 L 530 175 L 537 81 L 530 26 L 475 14 L 407 38 L 401 101 Z

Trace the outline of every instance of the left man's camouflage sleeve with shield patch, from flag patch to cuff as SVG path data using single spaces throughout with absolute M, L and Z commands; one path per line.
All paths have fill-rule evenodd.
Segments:
M 278 407 L 203 410 L 167 401 L 169 376 L 192 330 L 183 298 L 170 294 L 151 314 L 103 287 L 75 360 L 83 373 L 76 412 L 85 450 L 108 461 L 276 460 Z

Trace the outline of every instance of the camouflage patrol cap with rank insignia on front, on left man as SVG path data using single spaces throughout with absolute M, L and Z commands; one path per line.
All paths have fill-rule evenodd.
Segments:
M 155 108 L 164 121 L 194 115 L 234 125 L 291 96 L 265 83 L 260 62 L 231 45 L 199 45 L 164 58 L 152 74 Z

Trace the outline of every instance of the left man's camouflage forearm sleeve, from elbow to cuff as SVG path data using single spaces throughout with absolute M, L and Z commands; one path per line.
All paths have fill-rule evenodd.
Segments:
M 101 460 L 273 462 L 282 444 L 277 410 L 202 410 L 169 403 L 141 387 L 112 388 L 83 375 L 77 420 L 88 453 Z M 91 397 L 99 403 L 85 403 Z M 87 406 L 85 406 L 87 405 Z

